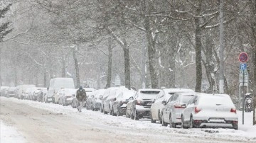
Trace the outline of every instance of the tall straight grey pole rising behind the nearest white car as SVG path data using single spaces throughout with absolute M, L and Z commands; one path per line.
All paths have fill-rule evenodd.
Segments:
M 224 51 L 224 42 L 223 42 L 223 0 L 220 0 L 220 83 L 219 83 L 219 92 L 224 93 L 224 58 L 223 58 L 223 51 Z

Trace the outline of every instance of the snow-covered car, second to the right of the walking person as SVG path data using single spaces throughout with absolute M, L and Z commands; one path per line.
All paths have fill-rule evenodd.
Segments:
M 105 89 L 99 89 L 92 93 L 95 96 L 94 100 L 92 100 L 92 110 L 100 110 L 104 91 Z

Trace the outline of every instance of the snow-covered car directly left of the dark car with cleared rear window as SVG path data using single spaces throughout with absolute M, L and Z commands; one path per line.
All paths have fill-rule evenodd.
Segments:
M 134 96 L 135 93 L 136 91 L 133 90 L 121 91 L 119 95 L 117 95 L 117 98 L 114 98 L 112 105 L 113 115 L 125 115 L 129 98 Z

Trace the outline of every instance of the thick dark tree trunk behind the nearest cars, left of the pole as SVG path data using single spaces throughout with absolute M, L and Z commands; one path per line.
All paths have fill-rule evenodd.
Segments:
M 199 10 L 200 11 L 200 10 Z M 202 43 L 201 43 L 201 28 L 200 21 L 198 18 L 195 18 L 195 38 L 196 38 L 196 92 L 201 92 L 202 86 Z

